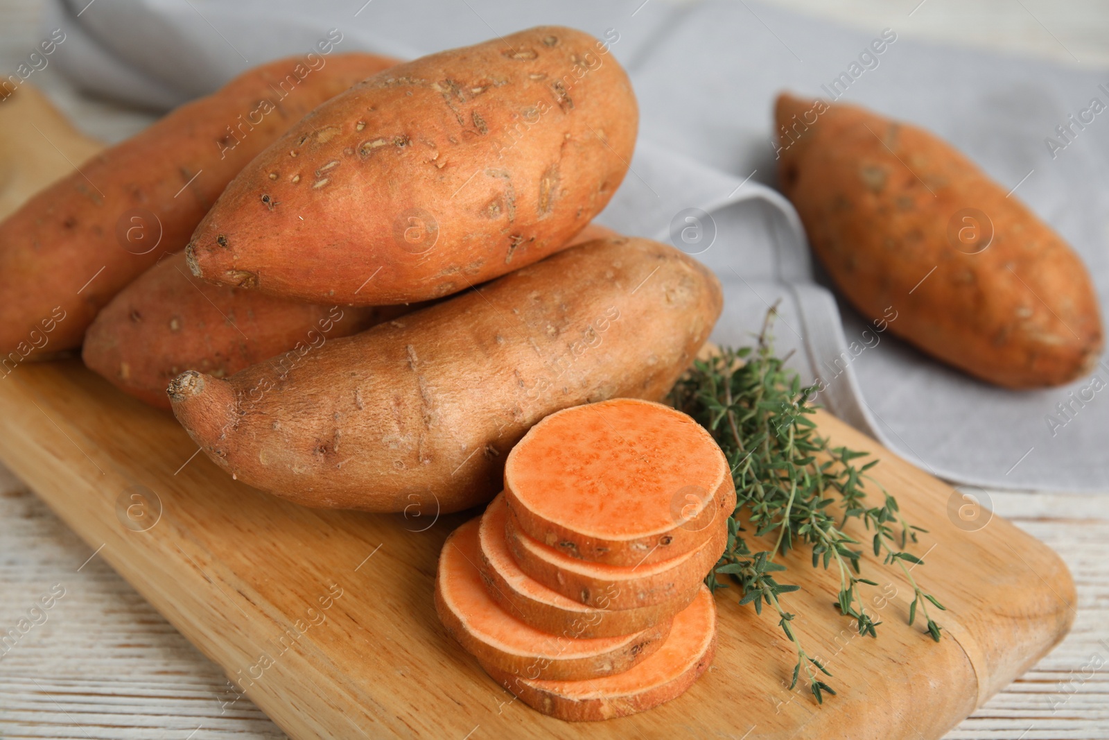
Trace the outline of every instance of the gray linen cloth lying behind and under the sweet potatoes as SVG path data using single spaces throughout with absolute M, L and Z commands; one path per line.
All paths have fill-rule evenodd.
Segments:
M 739 0 L 52 0 L 43 23 L 65 31 L 55 60 L 79 87 L 154 109 L 305 53 L 330 29 L 343 34 L 337 51 L 405 59 L 541 23 L 593 33 L 628 69 L 641 112 L 631 171 L 600 221 L 716 272 L 725 308 L 713 341 L 751 343 L 780 302 L 779 349 L 793 351 L 806 382 L 823 379 L 821 403 L 897 454 L 957 483 L 1109 490 L 1109 366 L 1068 387 L 1004 391 L 864 321 L 827 288 L 796 213 L 772 190 L 771 115 L 775 94 L 792 90 L 926 126 L 1016 187 L 1082 255 L 1106 305 L 1109 72 L 914 43 L 898 28 L 846 31 Z

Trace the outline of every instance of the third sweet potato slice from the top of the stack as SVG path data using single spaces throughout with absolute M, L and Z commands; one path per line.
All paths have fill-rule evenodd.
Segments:
M 505 539 L 507 524 L 508 506 L 505 496 L 500 495 L 481 517 L 478 535 L 481 578 L 489 596 L 502 609 L 545 632 L 583 638 L 631 635 L 658 622 L 670 621 L 698 594 L 694 587 L 662 604 L 633 609 L 588 607 L 547 588 L 520 570 Z

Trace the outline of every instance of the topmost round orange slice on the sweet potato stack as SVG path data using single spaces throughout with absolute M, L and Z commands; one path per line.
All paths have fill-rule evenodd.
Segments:
M 505 497 L 535 539 L 617 566 L 696 549 L 735 507 L 712 435 L 635 398 L 567 408 L 531 427 L 508 455 Z

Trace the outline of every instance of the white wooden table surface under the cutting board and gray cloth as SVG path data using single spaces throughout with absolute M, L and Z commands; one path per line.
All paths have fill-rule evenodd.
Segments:
M 895 26 L 907 37 L 1109 69 L 1109 4 L 1103 1 L 776 2 L 851 26 Z M 39 0 L 0 2 L 2 74 L 38 41 L 38 13 Z M 37 82 L 82 129 L 106 141 L 151 120 L 81 99 L 49 68 Z M 1109 739 L 1109 491 L 993 491 L 991 498 L 998 514 L 1064 557 L 1078 585 L 1078 612 L 1062 645 L 947 737 Z M 0 657 L 0 738 L 284 737 L 245 699 L 227 704 L 221 669 L 2 468 L 0 584 L 0 633 L 27 618 L 51 589 L 64 589 L 43 612 L 45 620 L 37 616 L 41 624 Z

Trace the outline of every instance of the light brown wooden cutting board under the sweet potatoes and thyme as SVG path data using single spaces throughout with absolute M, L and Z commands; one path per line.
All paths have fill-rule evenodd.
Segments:
M 301 508 L 232 480 L 194 455 L 170 415 L 74 361 L 0 377 L 0 459 L 294 739 L 939 738 L 1062 638 L 1070 576 L 1009 523 L 980 526 L 988 515 L 975 519 L 944 483 L 827 414 L 818 422 L 835 444 L 881 457 L 874 476 L 929 530 L 914 576 L 948 607 L 943 641 L 905 625 L 910 591 L 873 558 L 876 640 L 832 607 L 832 574 L 791 557 L 785 580 L 802 590 L 786 608 L 838 696 L 818 707 L 786 690 L 790 645 L 725 590 L 715 662 L 689 692 L 574 724 L 513 701 L 435 616 L 439 548 L 474 513 L 433 521 Z M 228 688 L 226 701 L 235 697 Z

